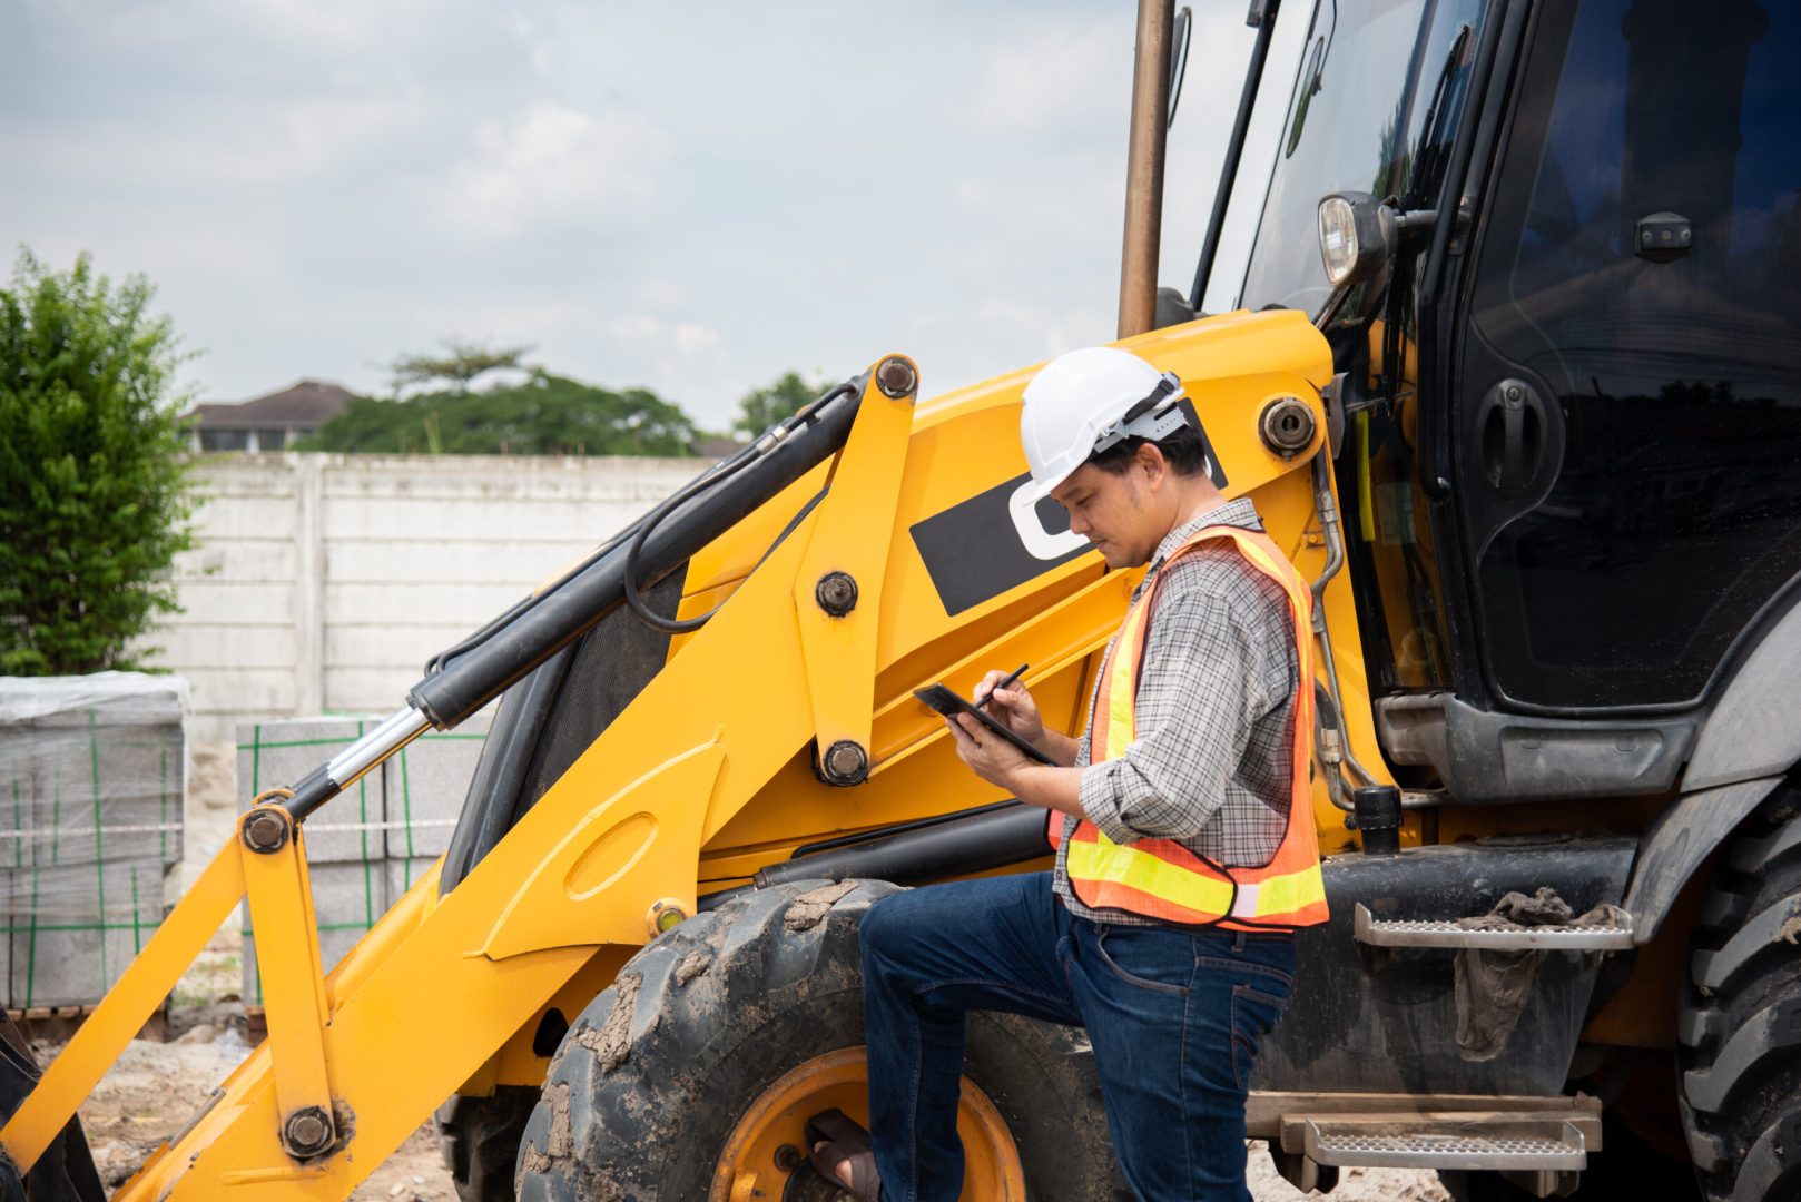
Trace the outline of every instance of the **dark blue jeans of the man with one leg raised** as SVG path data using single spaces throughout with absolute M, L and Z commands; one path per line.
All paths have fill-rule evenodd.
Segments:
M 929 885 L 863 919 L 870 1137 L 884 1202 L 955 1202 L 964 1015 L 1081 1025 L 1108 1130 L 1147 1202 L 1250 1202 L 1244 1092 L 1293 984 L 1293 935 L 1108 926 L 1048 872 Z

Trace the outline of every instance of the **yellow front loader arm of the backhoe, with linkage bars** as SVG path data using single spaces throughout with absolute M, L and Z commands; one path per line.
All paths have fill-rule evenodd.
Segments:
M 1324 339 L 1300 314 L 1228 314 L 1129 344 L 1185 378 L 1226 492 L 1255 494 L 1277 542 L 1317 575 L 1326 544 L 1306 465 L 1324 434 L 1284 458 L 1257 425 L 1273 398 L 1295 396 L 1324 431 Z M 911 688 L 935 679 L 969 688 L 987 667 L 1030 661 L 1034 688 L 1079 696 L 1138 573 L 1108 573 L 1099 555 L 1021 526 L 1030 512 L 1005 506 L 1023 472 L 1016 431 L 1028 373 L 919 407 L 913 387 L 884 391 L 882 378 L 881 366 L 864 377 L 836 458 L 765 497 L 778 505 L 827 488 L 767 559 L 747 575 L 733 568 L 764 548 L 738 546 L 731 530 L 686 551 L 706 569 L 690 577 L 690 593 L 711 604 L 720 580 L 737 578 L 729 602 L 675 642 L 663 670 L 456 888 L 439 897 L 429 872 L 324 979 L 312 928 L 286 941 L 285 962 L 263 970 L 270 1038 L 117 1197 L 348 1197 L 576 973 L 620 962 L 670 914 L 695 914 L 702 854 L 735 858 L 747 874 L 758 856 L 782 854 L 762 836 L 785 815 L 825 815 L 827 829 L 854 831 L 879 825 L 897 797 L 924 813 L 998 800 L 962 769 L 942 721 Z M 964 512 L 974 523 L 983 497 L 1014 523 L 1012 546 L 978 523 L 964 553 L 1007 559 L 1018 575 L 1009 584 L 994 562 L 980 566 L 985 596 L 944 559 L 956 530 L 937 542 L 922 533 L 937 523 L 935 537 L 946 535 Z M 935 562 L 928 542 L 940 548 Z M 841 615 L 825 611 L 819 587 L 834 571 L 855 584 L 857 602 Z M 1349 613 L 1340 591 L 1342 580 L 1327 591 L 1335 616 Z M 1354 629 L 1342 636 L 1356 645 Z M 1345 688 L 1362 690 L 1358 670 Z M 827 782 L 855 759 L 843 751 L 834 768 L 841 744 L 864 760 L 845 773 L 861 782 L 846 779 L 852 788 Z M 1317 795 L 1322 827 L 1342 843 L 1340 813 L 1324 786 Z M 286 798 L 259 806 L 268 818 L 292 809 Z M 61 1130 L 245 887 L 259 935 L 265 914 L 272 930 L 303 930 L 304 831 L 270 856 L 250 840 L 259 811 L 0 1130 L 20 1166 Z M 268 863 L 247 870 L 252 856 Z M 331 1143 L 295 1155 L 295 1115 L 313 1106 L 328 1106 Z

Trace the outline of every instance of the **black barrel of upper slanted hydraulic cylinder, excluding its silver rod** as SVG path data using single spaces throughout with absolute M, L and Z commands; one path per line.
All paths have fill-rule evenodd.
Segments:
M 765 434 L 710 472 L 704 488 L 684 490 L 656 523 L 641 523 L 634 582 L 647 587 L 731 530 L 756 506 L 836 454 L 857 414 L 861 380 L 834 389 L 791 423 Z M 742 460 L 742 461 L 740 461 Z M 724 470 L 728 469 L 729 470 Z M 645 526 L 650 526 L 648 532 Z M 448 730 L 625 604 L 627 546 L 614 542 L 533 604 L 425 676 L 407 703 L 438 730 Z

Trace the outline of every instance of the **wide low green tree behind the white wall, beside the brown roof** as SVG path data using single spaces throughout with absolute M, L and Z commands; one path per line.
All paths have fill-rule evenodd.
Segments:
M 643 387 L 612 391 L 535 369 L 475 393 L 358 396 L 299 443 L 371 454 L 692 454 L 695 425 Z

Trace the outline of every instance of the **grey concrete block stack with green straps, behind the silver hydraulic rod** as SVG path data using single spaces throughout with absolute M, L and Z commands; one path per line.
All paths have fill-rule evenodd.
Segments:
M 263 789 L 295 784 L 378 721 L 376 715 L 295 717 L 240 724 L 240 809 Z M 421 735 L 301 827 L 324 971 L 330 973 L 448 847 L 486 730 L 486 715 L 477 715 L 456 732 Z M 249 903 L 243 906 L 243 998 L 249 1006 L 263 1004 Z

